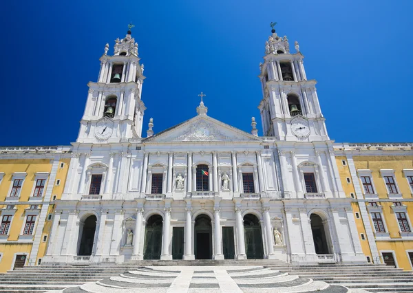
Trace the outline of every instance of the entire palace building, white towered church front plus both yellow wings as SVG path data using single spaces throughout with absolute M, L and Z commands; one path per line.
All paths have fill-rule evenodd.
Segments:
M 196 116 L 160 133 L 153 133 L 150 120 L 144 138 L 138 44 L 130 31 L 116 40 L 112 55 L 107 44 L 72 146 L 44 153 L 0 149 L 1 229 L 9 227 L 0 230 L 0 253 L 9 259 L 0 269 L 13 268 L 10 260 L 25 250 L 30 265 L 142 259 L 379 263 L 390 252 L 399 259 L 401 251 L 399 265 L 411 270 L 412 144 L 379 150 L 330 140 L 303 58 L 297 42 L 290 52 L 286 36 L 273 30 L 260 64 L 264 136 L 257 135 L 255 118 L 251 133 L 211 118 L 201 94 Z M 374 179 L 371 194 L 368 176 Z M 396 192 L 385 193 L 391 178 Z M 30 208 L 39 180 L 45 180 L 36 195 L 41 202 Z M 22 188 L 18 195 L 16 186 Z M 34 214 L 33 228 L 25 232 Z

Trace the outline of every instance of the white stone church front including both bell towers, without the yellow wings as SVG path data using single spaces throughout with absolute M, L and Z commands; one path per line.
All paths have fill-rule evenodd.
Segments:
M 107 56 L 107 45 L 98 83 L 89 83 L 43 262 L 121 263 L 157 253 L 160 259 L 252 255 L 293 263 L 365 262 L 350 199 L 343 193 L 332 140 L 314 94 L 315 81 L 306 80 L 301 53 L 290 54 L 286 37 L 277 38 L 274 33 L 266 43 L 266 63 L 260 66 L 260 111 L 268 135 L 263 137 L 256 135 L 255 120 L 253 134 L 246 133 L 209 117 L 201 102 L 197 116 L 167 131 L 153 135 L 151 120 L 148 137 L 141 138 L 145 106 L 140 90 L 145 77 L 138 47 L 130 34 L 116 40 L 114 56 Z M 279 64 L 285 60 L 293 64 L 293 80 L 282 78 Z M 118 83 L 112 81 L 114 65 L 123 65 L 116 69 L 121 73 Z M 287 86 L 302 105 L 298 114 L 288 109 Z M 105 114 L 108 98 L 116 98 L 112 116 Z M 203 175 L 208 183 L 201 188 L 196 172 L 200 165 L 208 173 Z M 308 173 L 314 176 L 315 192 L 308 192 L 304 180 Z M 153 174 L 161 178 L 157 192 L 152 188 Z M 249 189 L 245 174 L 251 175 Z M 91 194 L 94 175 L 101 175 L 98 194 Z M 150 242 L 145 237 L 148 229 L 156 230 L 153 215 L 162 217 L 162 237 Z M 202 222 L 207 226 L 200 218 L 207 219 Z M 94 223 L 93 234 L 93 228 L 86 227 Z M 251 240 L 247 230 L 257 225 L 260 235 L 251 234 Z M 182 229 L 183 237 L 178 233 Z M 204 236 L 195 240 L 199 229 L 204 229 Z M 323 236 L 315 239 L 320 229 Z M 87 233 L 91 239 L 85 238 Z M 201 236 L 209 237 L 209 244 L 202 243 Z M 154 254 L 148 254 L 148 243 Z M 201 246 L 209 251 L 201 252 Z M 262 246 L 262 252 L 255 246 Z M 260 255 L 251 254 L 251 248 Z

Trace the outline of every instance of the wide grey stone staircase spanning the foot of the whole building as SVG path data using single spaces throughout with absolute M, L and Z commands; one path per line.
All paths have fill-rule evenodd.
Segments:
M 134 261 L 122 264 L 79 263 L 78 265 L 45 264 L 17 269 L 10 271 L 7 274 L 0 274 L 0 292 L 45 292 L 49 290 L 63 290 L 67 287 L 73 288 L 64 290 L 65 293 L 85 292 L 80 288 L 76 289 L 76 287 L 90 282 L 97 284 L 100 280 L 108 282 L 107 280 L 109 280 L 109 278 L 125 278 L 125 274 L 145 270 L 143 267 L 156 267 L 151 268 L 151 270 L 165 270 L 165 268 L 159 268 L 160 266 L 164 266 L 165 268 L 170 268 L 172 266 L 209 266 L 214 267 L 208 268 L 208 270 L 212 272 L 222 269 L 223 266 L 249 266 L 249 268 L 261 266 L 263 268 L 262 272 L 264 272 L 264 269 L 275 271 L 274 276 L 277 277 L 279 274 L 287 273 L 289 276 L 299 276 L 301 281 L 303 279 L 313 279 L 316 282 L 319 281 L 321 283 L 326 282 L 332 285 L 343 285 L 350 288 L 350 290 L 363 289 L 369 292 L 388 293 L 413 292 L 412 272 L 405 272 L 401 269 L 385 265 L 293 265 L 268 259 L 248 259 L 242 261 Z M 201 270 L 202 272 L 202 269 L 196 268 L 196 270 Z M 205 268 L 205 270 L 207 270 L 207 268 Z M 176 271 L 180 270 L 176 269 Z M 248 279 L 248 274 L 250 273 L 248 273 L 248 270 L 246 269 L 246 273 L 242 275 L 242 279 Z M 251 272 L 251 274 L 253 274 L 253 272 Z M 254 274 L 257 275 L 256 273 Z M 151 279 L 151 274 L 144 275 L 147 279 Z M 156 276 L 156 274 L 154 275 Z M 229 275 L 231 275 L 230 272 Z M 126 278 L 129 277 L 130 276 L 126 276 Z M 134 277 L 136 278 L 135 275 Z M 204 277 L 207 278 L 207 276 Z M 233 278 L 233 276 L 231 276 L 231 278 Z M 142 280 L 142 276 L 138 276 L 138 279 Z M 196 281 L 196 278 L 193 280 Z M 331 288 L 336 288 L 335 290 L 338 292 L 339 289 L 337 288 L 341 287 Z M 109 288 L 107 289 L 109 291 Z M 250 289 L 252 290 L 251 287 L 249 287 L 248 290 Z M 244 292 L 248 292 L 248 290 L 242 289 Z M 110 292 L 112 291 L 113 290 L 110 290 Z M 161 291 L 156 290 L 153 292 L 160 293 Z M 140 291 L 138 290 L 136 292 Z M 145 289 L 145 292 L 149 291 Z M 261 292 L 263 291 L 261 290 Z

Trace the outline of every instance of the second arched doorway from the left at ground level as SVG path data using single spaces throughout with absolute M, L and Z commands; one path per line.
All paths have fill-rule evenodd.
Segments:
M 145 227 L 145 252 L 143 259 L 160 259 L 162 248 L 162 217 L 153 215 Z

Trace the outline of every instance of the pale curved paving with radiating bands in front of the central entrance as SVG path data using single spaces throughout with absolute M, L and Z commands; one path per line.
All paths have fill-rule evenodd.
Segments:
M 141 267 L 50 293 L 360 293 L 341 285 L 282 273 L 260 265 Z

